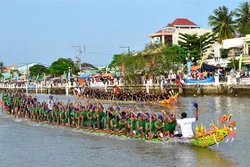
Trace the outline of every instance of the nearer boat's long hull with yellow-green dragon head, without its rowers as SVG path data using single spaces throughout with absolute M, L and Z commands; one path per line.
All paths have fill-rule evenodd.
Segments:
M 0 101 L 1 102 L 1 101 Z M 5 110 L 5 107 L 3 103 L 0 103 L 1 108 L 9 114 L 7 110 Z M 11 115 L 11 114 L 9 114 Z M 14 118 L 14 115 L 11 115 Z M 207 132 L 206 127 L 201 125 L 200 127 L 196 125 L 195 128 L 195 136 L 193 138 L 182 138 L 182 137 L 173 137 L 173 138 L 153 138 L 151 141 L 154 142 L 165 142 L 165 143 L 187 143 L 190 145 L 198 146 L 198 147 L 209 147 L 212 145 L 218 145 L 223 139 L 227 138 L 226 142 L 231 140 L 231 142 L 236 137 L 236 121 L 231 121 L 232 115 L 229 115 L 228 117 L 226 115 L 223 115 L 220 118 L 220 123 L 217 121 L 217 125 L 215 125 L 213 122 L 210 124 L 210 129 Z M 48 122 L 41 122 L 41 124 L 49 124 Z M 75 127 L 68 127 L 63 126 L 65 128 L 75 128 Z M 96 134 L 105 134 L 105 135 L 112 135 L 112 136 L 119 136 L 123 138 L 134 138 L 138 140 L 149 140 L 146 137 L 142 136 L 134 136 L 130 133 L 127 134 L 114 134 L 110 133 L 106 130 L 97 130 L 97 129 L 89 129 L 89 128 L 78 128 L 83 131 L 96 133 Z

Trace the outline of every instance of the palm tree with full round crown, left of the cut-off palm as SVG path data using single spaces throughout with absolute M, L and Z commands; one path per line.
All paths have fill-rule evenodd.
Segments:
M 214 15 L 210 15 L 208 20 L 218 42 L 222 43 L 222 40 L 232 38 L 236 30 L 236 21 L 233 20 L 235 13 L 224 5 L 215 9 L 213 13 Z

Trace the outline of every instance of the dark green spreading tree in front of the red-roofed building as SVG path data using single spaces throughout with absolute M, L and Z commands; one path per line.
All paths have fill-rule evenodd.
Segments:
M 186 55 L 189 52 L 192 57 L 197 59 L 201 59 L 204 52 L 207 51 L 208 48 L 211 47 L 216 41 L 216 38 L 212 33 L 205 33 L 201 36 L 197 34 L 180 34 L 180 41 L 178 41 L 179 45 L 186 50 Z

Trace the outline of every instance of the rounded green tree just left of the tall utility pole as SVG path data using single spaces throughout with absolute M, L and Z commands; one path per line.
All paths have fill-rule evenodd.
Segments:
M 79 68 L 74 64 L 71 59 L 59 58 L 57 61 L 54 61 L 50 68 L 50 74 L 56 74 L 57 76 L 67 73 L 68 70 L 71 70 L 73 74 L 79 72 Z

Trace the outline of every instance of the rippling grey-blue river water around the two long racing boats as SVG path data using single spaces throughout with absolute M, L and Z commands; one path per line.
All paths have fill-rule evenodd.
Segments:
M 40 101 L 48 95 L 38 95 Z M 63 101 L 73 96 L 55 96 Z M 8 167 L 147 167 L 147 166 L 250 166 L 250 101 L 240 97 L 180 97 L 173 107 L 138 104 L 139 108 L 159 112 L 186 111 L 193 116 L 192 103 L 199 104 L 199 120 L 208 126 L 223 114 L 233 114 L 237 121 L 237 137 L 218 147 L 199 148 L 180 143 L 160 143 L 93 134 L 15 119 L 0 114 L 0 166 Z M 106 104 L 107 105 L 107 104 Z M 129 105 L 129 104 L 126 104 Z M 125 104 L 121 104 L 125 106 Z

